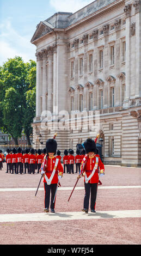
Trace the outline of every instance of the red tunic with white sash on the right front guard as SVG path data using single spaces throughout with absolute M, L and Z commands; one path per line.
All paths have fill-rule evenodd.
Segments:
M 85 172 L 87 174 L 87 177 L 89 177 L 89 175 L 91 174 L 91 172 L 93 172 L 94 166 L 95 166 L 95 162 L 96 162 L 96 157 L 97 155 L 94 155 L 93 157 L 89 157 L 87 160 L 87 163 L 84 166 L 84 169 L 81 168 L 81 172 L 80 175 Z M 98 183 L 99 182 L 99 167 L 100 170 L 105 170 L 104 164 L 101 162 L 100 157 L 99 158 L 99 163 L 98 163 L 98 167 L 95 170 L 94 175 L 91 177 L 91 179 L 88 181 L 89 183 Z M 85 179 L 84 179 L 85 181 Z

